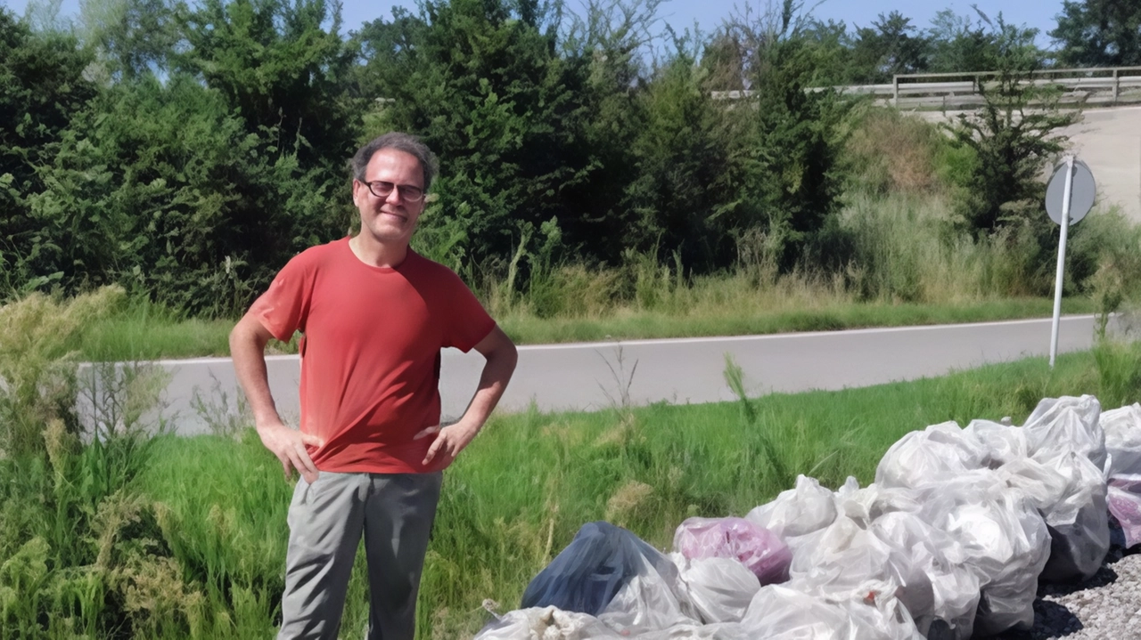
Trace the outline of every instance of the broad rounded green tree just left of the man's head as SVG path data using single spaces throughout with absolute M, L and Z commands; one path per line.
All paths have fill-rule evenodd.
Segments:
M 338 189 L 280 132 L 257 134 L 219 92 L 176 74 L 112 87 L 78 113 L 27 196 L 33 274 L 67 292 L 118 282 L 233 315 L 296 253 L 338 233 Z

